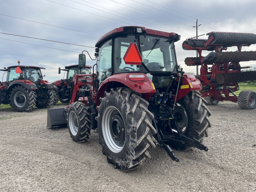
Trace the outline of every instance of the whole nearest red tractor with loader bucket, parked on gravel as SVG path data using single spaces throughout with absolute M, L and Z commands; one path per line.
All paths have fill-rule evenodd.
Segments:
M 47 127 L 68 125 L 76 142 L 85 142 L 95 130 L 102 154 L 122 171 L 151 158 L 156 145 L 176 162 L 171 148 L 207 151 L 203 139 L 211 112 L 197 92 L 200 81 L 178 71 L 174 43 L 179 40 L 178 34 L 144 27 L 108 32 L 95 45 L 92 74 L 73 75 L 70 104 L 48 109 Z M 82 88 L 85 84 L 91 88 Z

